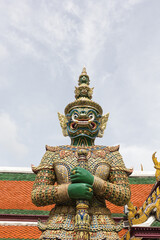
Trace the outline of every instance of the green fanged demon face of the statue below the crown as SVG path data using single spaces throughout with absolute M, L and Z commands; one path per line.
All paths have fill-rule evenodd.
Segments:
M 95 139 L 99 132 L 100 118 L 95 110 L 91 108 L 75 108 L 67 114 L 67 132 L 70 138 L 80 136 Z

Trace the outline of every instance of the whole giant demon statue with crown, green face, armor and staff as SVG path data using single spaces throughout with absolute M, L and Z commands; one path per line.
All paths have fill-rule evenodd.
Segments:
M 119 239 L 122 223 L 115 224 L 105 200 L 123 206 L 130 199 L 126 169 L 119 146 L 97 146 L 109 114 L 92 101 L 93 88 L 83 68 L 75 89 L 76 100 L 58 113 L 63 135 L 71 145 L 46 146 L 36 174 L 32 201 L 36 206 L 55 204 L 47 222 L 38 223 L 40 239 Z

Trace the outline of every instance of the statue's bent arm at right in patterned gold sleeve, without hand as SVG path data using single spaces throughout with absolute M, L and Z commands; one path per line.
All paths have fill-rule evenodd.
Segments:
M 120 156 L 120 154 L 119 154 Z M 130 200 L 131 191 L 124 163 L 113 166 L 108 181 L 94 176 L 93 190 L 96 195 L 105 197 L 115 205 L 123 206 Z

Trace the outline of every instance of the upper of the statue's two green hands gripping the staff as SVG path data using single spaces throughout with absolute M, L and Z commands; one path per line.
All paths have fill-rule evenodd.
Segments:
M 71 171 L 72 183 L 88 183 L 90 185 L 94 182 L 94 176 L 84 168 L 75 167 Z

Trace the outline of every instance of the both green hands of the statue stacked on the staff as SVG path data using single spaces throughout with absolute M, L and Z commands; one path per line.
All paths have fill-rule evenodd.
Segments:
M 75 167 L 71 171 L 72 184 L 68 186 L 68 194 L 72 199 L 90 200 L 93 197 L 94 176 L 84 168 Z

